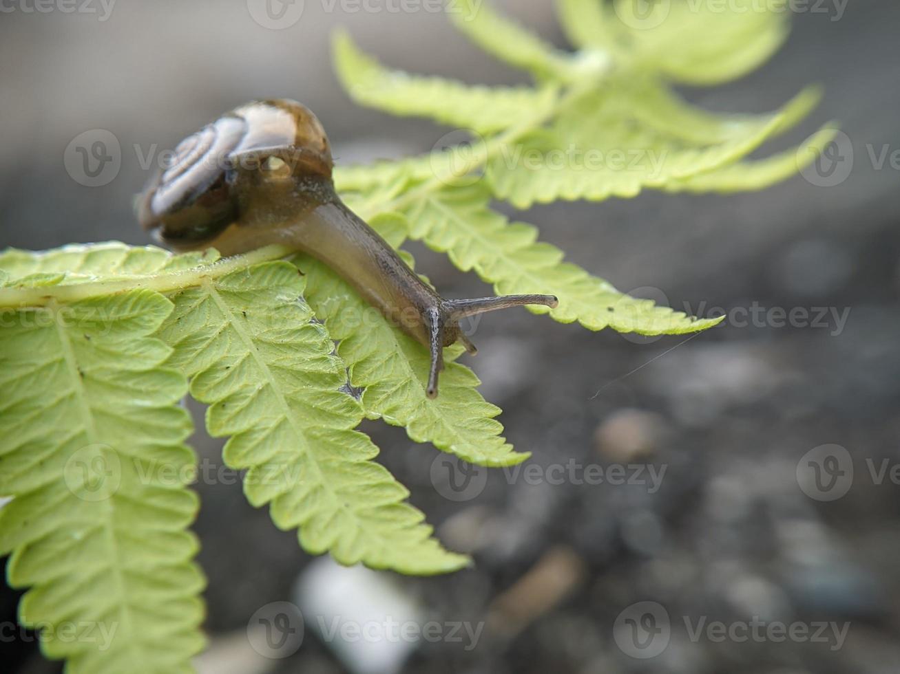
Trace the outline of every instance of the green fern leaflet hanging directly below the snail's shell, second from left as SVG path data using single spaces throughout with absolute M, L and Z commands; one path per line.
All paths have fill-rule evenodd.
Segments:
M 299 528 L 313 554 L 405 573 L 463 567 L 467 557 L 431 537 L 403 502 L 409 492 L 373 461 L 378 449 L 353 430 L 362 406 L 302 290 L 295 267 L 269 262 L 173 297 L 160 335 L 191 394 L 210 405 L 211 435 L 229 436 L 226 463 L 248 470 L 247 499 L 269 503 L 279 528 Z

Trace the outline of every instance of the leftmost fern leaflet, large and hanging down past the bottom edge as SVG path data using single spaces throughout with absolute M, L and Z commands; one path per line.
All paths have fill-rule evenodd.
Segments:
M 187 384 L 149 336 L 171 310 L 136 290 L 0 330 L 0 554 L 31 587 L 20 620 L 70 672 L 191 671 L 203 645 Z

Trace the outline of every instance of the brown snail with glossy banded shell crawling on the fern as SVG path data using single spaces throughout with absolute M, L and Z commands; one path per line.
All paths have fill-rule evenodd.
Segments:
M 329 139 L 316 116 L 288 100 L 251 102 L 175 147 L 137 201 L 144 229 L 176 251 L 222 255 L 283 244 L 338 272 L 365 300 L 430 350 L 426 394 L 437 396 L 443 348 L 464 317 L 508 306 L 554 307 L 551 295 L 444 299 L 340 200 Z

